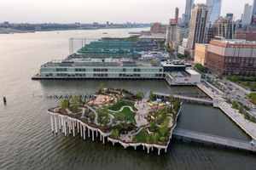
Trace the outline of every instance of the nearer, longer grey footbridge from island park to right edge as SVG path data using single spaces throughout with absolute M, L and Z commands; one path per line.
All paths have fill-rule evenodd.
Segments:
M 175 128 L 172 134 L 181 136 L 181 137 L 186 137 L 189 139 L 201 140 L 201 141 L 210 142 L 213 144 L 222 144 L 224 146 L 230 146 L 230 147 L 241 149 L 241 150 L 249 150 L 249 151 L 256 152 L 255 145 L 252 145 L 250 142 L 247 142 L 247 141 L 229 139 L 229 138 L 224 138 L 224 137 L 207 134 L 207 133 L 198 133 L 198 132 L 189 131 L 181 128 Z

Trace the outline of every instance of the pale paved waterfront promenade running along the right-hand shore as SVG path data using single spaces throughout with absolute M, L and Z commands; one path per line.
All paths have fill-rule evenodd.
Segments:
M 236 109 L 231 107 L 220 95 L 212 92 L 211 89 L 207 88 L 203 83 L 197 84 L 198 88 L 207 93 L 213 99 L 213 107 L 218 107 L 224 113 L 236 122 L 236 124 L 241 127 L 254 141 L 256 140 L 256 123 L 250 122 L 245 119 L 242 114 L 240 114 Z M 255 142 L 254 142 L 255 144 Z

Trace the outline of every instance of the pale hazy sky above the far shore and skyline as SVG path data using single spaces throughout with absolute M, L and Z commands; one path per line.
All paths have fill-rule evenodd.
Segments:
M 184 13 L 186 0 L 0 0 L 0 23 L 168 23 Z M 206 3 L 206 0 L 195 0 Z M 245 3 L 253 0 L 223 0 L 221 15 L 241 18 Z

